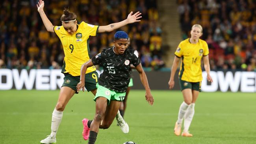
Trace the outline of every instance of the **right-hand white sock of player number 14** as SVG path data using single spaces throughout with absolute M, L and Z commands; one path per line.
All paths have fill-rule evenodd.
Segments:
M 191 103 L 184 117 L 184 131 L 187 132 L 195 114 L 195 103 Z

